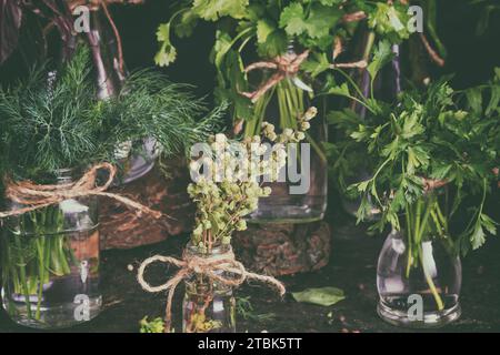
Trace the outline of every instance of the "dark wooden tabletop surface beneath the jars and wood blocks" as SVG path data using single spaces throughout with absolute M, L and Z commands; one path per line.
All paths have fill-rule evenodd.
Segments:
M 344 290 L 347 298 L 331 307 L 297 303 L 287 294 L 279 300 L 271 291 L 246 285 L 237 297 L 250 296 L 259 320 L 238 316 L 239 332 L 406 332 L 386 324 L 376 313 L 376 264 L 382 237 L 367 236 L 362 229 L 347 224 L 333 227 L 330 263 L 319 272 L 281 277 L 288 291 L 306 287 L 336 286 Z M 102 291 L 104 311 L 96 320 L 63 332 L 138 332 L 144 316 L 162 316 L 164 294 L 148 294 L 136 281 L 139 263 L 153 254 L 179 255 L 186 236 L 171 237 L 152 246 L 102 253 Z M 133 265 L 133 271 L 129 271 Z M 162 283 L 174 270 L 152 267 L 151 282 Z M 463 261 L 461 295 L 462 317 L 441 332 L 500 331 L 500 243 L 490 237 L 487 247 Z M 179 326 L 183 295 L 179 287 L 173 314 Z M 264 316 L 262 316 L 264 315 Z M 30 332 L 13 324 L 0 313 L 0 332 Z

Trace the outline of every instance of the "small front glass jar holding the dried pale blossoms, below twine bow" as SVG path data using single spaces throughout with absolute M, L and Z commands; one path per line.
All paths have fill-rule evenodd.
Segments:
M 211 253 L 201 253 L 188 245 L 187 256 L 217 257 L 230 251 L 230 245 L 212 248 Z M 221 284 L 201 274 L 194 274 L 184 281 L 186 293 L 182 302 L 183 333 L 234 333 L 236 301 L 232 286 Z

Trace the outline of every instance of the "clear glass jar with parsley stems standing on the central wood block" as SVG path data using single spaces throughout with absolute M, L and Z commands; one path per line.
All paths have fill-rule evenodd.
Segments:
M 288 54 L 296 54 L 293 42 Z M 273 71 L 264 72 L 256 82 L 261 84 L 272 74 Z M 259 98 L 253 120 L 246 122 L 246 136 L 260 134 L 263 121 L 273 124 L 279 134 L 284 129 L 297 129 L 298 119 L 310 106 L 318 109 L 306 139 L 300 144 L 288 145 L 283 181 L 264 184 L 272 189 L 271 195 L 259 200 L 250 222 L 302 223 L 323 219 L 328 193 L 328 164 L 322 148 L 322 142 L 327 141 L 327 106 L 326 100 L 314 99 L 314 87 L 317 83 L 302 73 L 284 78 Z

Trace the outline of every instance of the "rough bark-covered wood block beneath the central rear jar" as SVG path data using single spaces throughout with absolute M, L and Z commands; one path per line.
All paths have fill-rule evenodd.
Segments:
M 324 222 L 249 224 L 232 239 L 236 254 L 248 270 L 273 276 L 323 267 L 330 257 L 330 242 Z

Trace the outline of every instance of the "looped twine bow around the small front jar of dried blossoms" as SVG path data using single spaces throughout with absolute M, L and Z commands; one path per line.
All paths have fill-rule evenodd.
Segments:
M 159 286 L 151 286 L 144 280 L 144 271 L 146 267 L 156 262 L 174 265 L 180 270 L 172 278 L 170 278 L 164 284 Z M 274 277 L 248 272 L 244 268 L 243 264 L 236 261 L 232 251 L 223 254 L 211 255 L 208 257 L 190 255 L 184 252 L 182 260 L 170 256 L 154 255 L 148 257 L 141 263 L 141 265 L 139 266 L 137 278 L 142 290 L 147 292 L 158 293 L 168 291 L 164 326 L 166 333 L 170 333 L 172 318 L 172 300 L 173 294 L 176 293 L 176 288 L 182 280 L 193 274 L 204 275 L 209 277 L 209 280 L 218 281 L 219 283 L 227 286 L 239 286 L 246 280 L 260 281 L 264 284 L 276 287 L 281 296 L 283 296 L 286 293 L 284 285 Z

